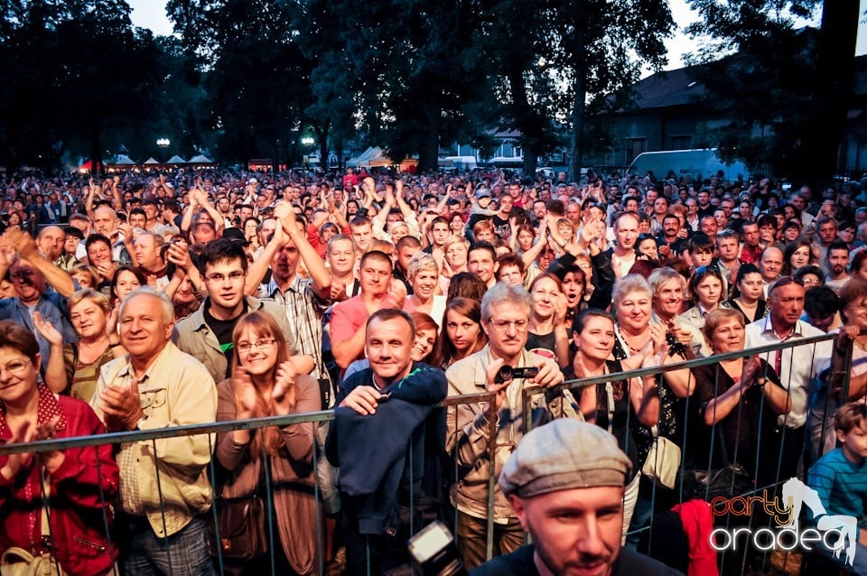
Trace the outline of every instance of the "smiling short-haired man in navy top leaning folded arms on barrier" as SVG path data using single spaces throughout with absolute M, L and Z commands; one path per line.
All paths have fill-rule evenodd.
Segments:
M 439 483 L 425 457 L 440 451 L 425 450 L 436 444 L 426 434 L 435 428 L 446 383 L 442 370 L 413 361 L 414 344 L 415 322 L 406 311 L 371 314 L 364 344 L 370 367 L 343 382 L 334 411 L 327 450 L 340 467 L 352 576 L 408 567 L 410 528 L 435 519 Z

